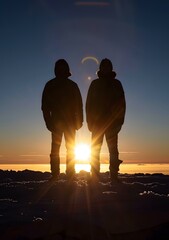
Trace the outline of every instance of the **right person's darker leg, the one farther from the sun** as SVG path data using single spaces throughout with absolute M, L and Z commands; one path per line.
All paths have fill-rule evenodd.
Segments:
M 121 160 L 119 160 L 119 151 L 118 151 L 118 131 L 115 131 L 114 129 L 109 128 L 106 131 L 106 141 L 108 145 L 109 150 L 109 158 L 110 158 L 110 177 L 112 180 L 118 178 L 118 171 L 119 171 L 119 165 L 122 163 Z

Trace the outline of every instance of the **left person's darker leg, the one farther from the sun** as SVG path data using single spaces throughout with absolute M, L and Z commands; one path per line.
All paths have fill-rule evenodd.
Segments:
M 60 156 L 59 150 L 63 133 L 61 131 L 52 132 L 50 167 L 53 177 L 57 177 L 60 173 Z

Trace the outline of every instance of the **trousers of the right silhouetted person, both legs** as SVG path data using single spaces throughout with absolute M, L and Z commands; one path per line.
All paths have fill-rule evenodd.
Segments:
M 95 128 L 92 131 L 92 158 L 91 158 L 91 173 L 98 174 L 100 172 L 100 151 L 103 144 L 103 137 L 105 136 L 108 150 L 110 172 L 117 173 L 119 170 L 119 152 L 118 152 L 118 132 L 120 128 L 116 129 L 109 127 L 106 130 L 103 128 Z

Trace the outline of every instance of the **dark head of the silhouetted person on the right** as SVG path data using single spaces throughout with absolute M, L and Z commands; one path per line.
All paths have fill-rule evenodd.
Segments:
M 113 64 L 108 58 L 102 59 L 97 75 L 99 77 L 116 75 L 116 73 L 113 71 Z

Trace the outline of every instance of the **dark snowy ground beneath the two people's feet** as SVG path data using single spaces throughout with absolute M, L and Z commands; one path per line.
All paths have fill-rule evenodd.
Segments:
M 0 170 L 2 240 L 169 239 L 169 175 L 120 175 L 122 183 L 87 183 L 80 172 Z

